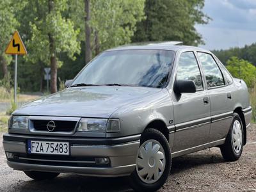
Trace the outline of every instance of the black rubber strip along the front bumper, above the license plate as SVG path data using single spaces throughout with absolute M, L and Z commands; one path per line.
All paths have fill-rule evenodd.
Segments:
M 72 137 L 56 137 L 56 136 L 35 136 L 25 134 L 10 134 L 3 135 L 4 141 L 19 141 L 26 143 L 27 140 L 40 141 L 68 141 L 70 145 L 116 145 L 122 143 L 129 143 L 140 140 L 140 134 L 125 136 L 121 138 L 72 138 Z

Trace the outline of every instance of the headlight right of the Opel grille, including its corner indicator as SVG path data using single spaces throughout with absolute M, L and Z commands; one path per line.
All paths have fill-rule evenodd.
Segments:
M 81 118 L 77 131 L 119 132 L 120 123 L 118 119 Z

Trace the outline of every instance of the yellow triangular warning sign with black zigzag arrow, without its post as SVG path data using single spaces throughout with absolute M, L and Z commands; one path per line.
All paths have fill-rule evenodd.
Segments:
M 23 44 L 19 32 L 15 31 L 13 33 L 10 43 L 5 49 L 6 54 L 27 54 L 25 45 Z

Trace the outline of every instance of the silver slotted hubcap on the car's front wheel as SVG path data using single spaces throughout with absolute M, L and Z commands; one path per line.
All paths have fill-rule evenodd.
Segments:
M 136 171 L 143 182 L 152 184 L 159 180 L 165 163 L 164 149 L 158 141 L 147 140 L 142 143 L 136 159 Z

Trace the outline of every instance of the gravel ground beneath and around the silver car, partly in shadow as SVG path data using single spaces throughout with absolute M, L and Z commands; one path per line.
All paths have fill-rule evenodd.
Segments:
M 7 166 L 2 134 L 0 138 L 0 191 L 132 191 L 125 177 L 61 174 L 51 181 L 35 182 Z M 248 128 L 248 144 L 239 161 L 223 161 L 219 148 L 177 157 L 159 191 L 256 191 L 256 125 Z

